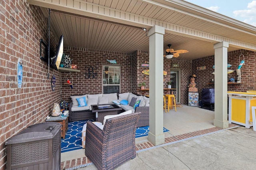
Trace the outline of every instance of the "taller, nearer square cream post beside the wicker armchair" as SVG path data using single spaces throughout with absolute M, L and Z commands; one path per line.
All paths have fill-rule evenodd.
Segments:
M 149 133 L 153 145 L 164 143 L 163 117 L 163 70 L 164 27 L 154 25 L 149 31 Z

